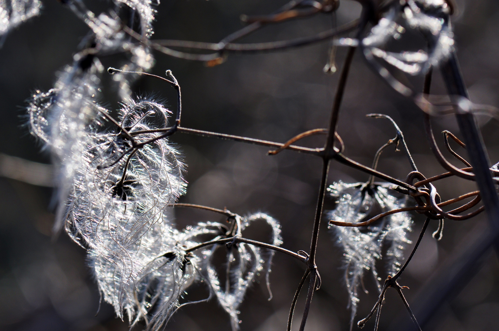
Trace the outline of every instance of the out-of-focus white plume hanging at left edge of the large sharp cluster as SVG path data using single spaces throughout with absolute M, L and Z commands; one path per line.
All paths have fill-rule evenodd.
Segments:
M 27 108 L 30 132 L 50 149 L 58 171 L 56 231 L 66 217 L 74 170 L 81 165 L 82 141 L 88 137 L 91 126 L 99 123 L 95 100 L 100 94 L 103 68 L 96 58 L 91 57 L 88 62 L 84 68 L 81 61 L 66 66 L 54 88 L 47 93 L 36 91 Z

